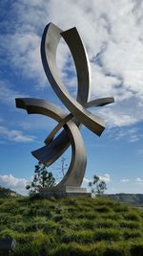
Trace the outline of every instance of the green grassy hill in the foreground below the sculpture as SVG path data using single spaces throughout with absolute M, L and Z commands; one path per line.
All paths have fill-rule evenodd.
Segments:
M 14 256 L 142 256 L 143 211 L 109 198 L 0 199 L 6 236 Z

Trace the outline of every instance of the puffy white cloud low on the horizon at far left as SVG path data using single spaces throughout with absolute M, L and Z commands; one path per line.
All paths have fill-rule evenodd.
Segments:
M 13 175 L 0 175 L 0 185 L 2 187 L 10 188 L 21 195 L 27 195 L 27 184 L 28 180 L 26 178 L 17 178 Z

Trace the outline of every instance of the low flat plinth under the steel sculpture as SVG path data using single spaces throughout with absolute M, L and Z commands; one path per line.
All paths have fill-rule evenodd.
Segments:
M 61 187 L 55 189 L 53 188 L 43 188 L 40 189 L 40 196 L 42 198 L 71 198 L 71 197 L 89 197 L 92 198 L 92 194 L 87 192 L 86 188 L 80 187 Z

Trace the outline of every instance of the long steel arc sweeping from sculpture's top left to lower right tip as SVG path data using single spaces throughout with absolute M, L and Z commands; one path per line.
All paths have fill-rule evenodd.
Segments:
M 73 116 L 75 116 L 80 123 L 84 124 L 87 128 L 90 128 L 94 133 L 100 136 L 105 128 L 104 121 L 77 103 L 71 97 L 58 76 L 56 67 L 56 49 L 61 37 L 60 33 L 62 33 L 62 31 L 52 23 L 45 28 L 41 41 L 41 58 L 44 70 L 51 82 L 54 92 L 72 112 Z M 64 32 L 64 35 L 66 35 L 66 32 Z M 78 45 L 79 41 L 74 41 L 74 43 Z

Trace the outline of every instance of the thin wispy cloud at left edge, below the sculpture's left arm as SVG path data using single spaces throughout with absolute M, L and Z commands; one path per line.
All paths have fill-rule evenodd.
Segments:
M 14 142 L 31 142 L 35 138 L 34 136 L 23 134 L 23 132 L 20 130 L 5 127 L 0 127 L 0 134 L 4 139 Z

